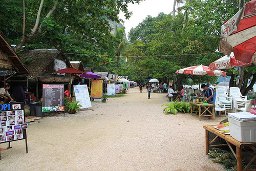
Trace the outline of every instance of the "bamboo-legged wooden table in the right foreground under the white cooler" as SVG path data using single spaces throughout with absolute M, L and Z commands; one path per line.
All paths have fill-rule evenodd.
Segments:
M 219 132 L 219 130 L 214 128 L 215 125 L 204 125 L 203 128 L 205 129 L 205 148 L 206 148 L 206 154 L 209 153 L 209 147 L 219 147 L 219 146 L 226 146 L 228 145 L 231 149 L 231 152 L 233 153 L 234 157 L 237 159 L 237 166 L 238 171 L 245 171 L 245 170 L 256 170 L 256 169 L 247 169 L 251 163 L 256 159 L 256 155 L 251 159 L 251 161 L 243 168 L 242 164 L 242 149 L 245 147 L 250 147 L 253 152 L 256 154 L 256 143 L 242 143 L 237 141 L 236 139 L 232 138 L 230 135 L 225 135 Z M 216 135 L 216 137 L 209 141 L 209 132 Z M 218 137 L 224 139 L 227 144 L 218 144 L 218 145 L 210 145 L 212 144 Z M 233 148 L 230 144 L 233 144 L 237 148 L 237 153 L 234 153 Z

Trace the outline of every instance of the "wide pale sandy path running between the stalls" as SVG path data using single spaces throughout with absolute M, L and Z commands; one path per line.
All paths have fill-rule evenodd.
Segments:
M 147 99 L 145 90 L 130 89 L 126 97 L 93 102 L 93 110 L 32 122 L 29 153 L 24 140 L 12 142 L 0 170 L 224 170 L 205 155 L 202 126 L 225 117 L 164 115 L 165 95 Z

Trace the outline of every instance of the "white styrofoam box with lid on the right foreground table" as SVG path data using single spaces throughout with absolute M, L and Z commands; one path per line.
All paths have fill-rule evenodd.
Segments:
M 228 115 L 230 136 L 240 142 L 256 142 L 256 120 L 242 121 Z

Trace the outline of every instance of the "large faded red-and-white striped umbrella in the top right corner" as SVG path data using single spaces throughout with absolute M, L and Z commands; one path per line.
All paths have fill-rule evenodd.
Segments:
M 234 52 L 237 60 L 256 64 L 256 0 L 252 0 L 221 26 L 220 52 Z

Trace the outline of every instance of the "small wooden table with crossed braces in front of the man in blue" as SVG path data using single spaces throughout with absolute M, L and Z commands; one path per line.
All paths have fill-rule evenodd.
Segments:
M 201 120 L 201 117 L 207 117 L 207 116 L 210 116 L 212 118 L 212 120 L 214 120 L 214 107 L 215 105 L 214 104 L 210 104 L 208 103 L 207 105 L 204 105 L 202 103 L 194 103 L 194 102 L 190 102 L 190 105 L 191 105 L 191 115 L 193 115 L 193 113 L 197 113 L 199 112 L 199 120 Z M 193 108 L 193 105 L 194 105 L 194 108 Z M 212 108 L 210 110 L 210 107 Z M 195 109 L 198 109 L 198 111 L 195 111 Z M 204 111 L 202 112 L 202 109 L 204 109 Z M 210 115 L 203 115 L 203 114 L 206 114 L 206 112 L 209 112 Z

